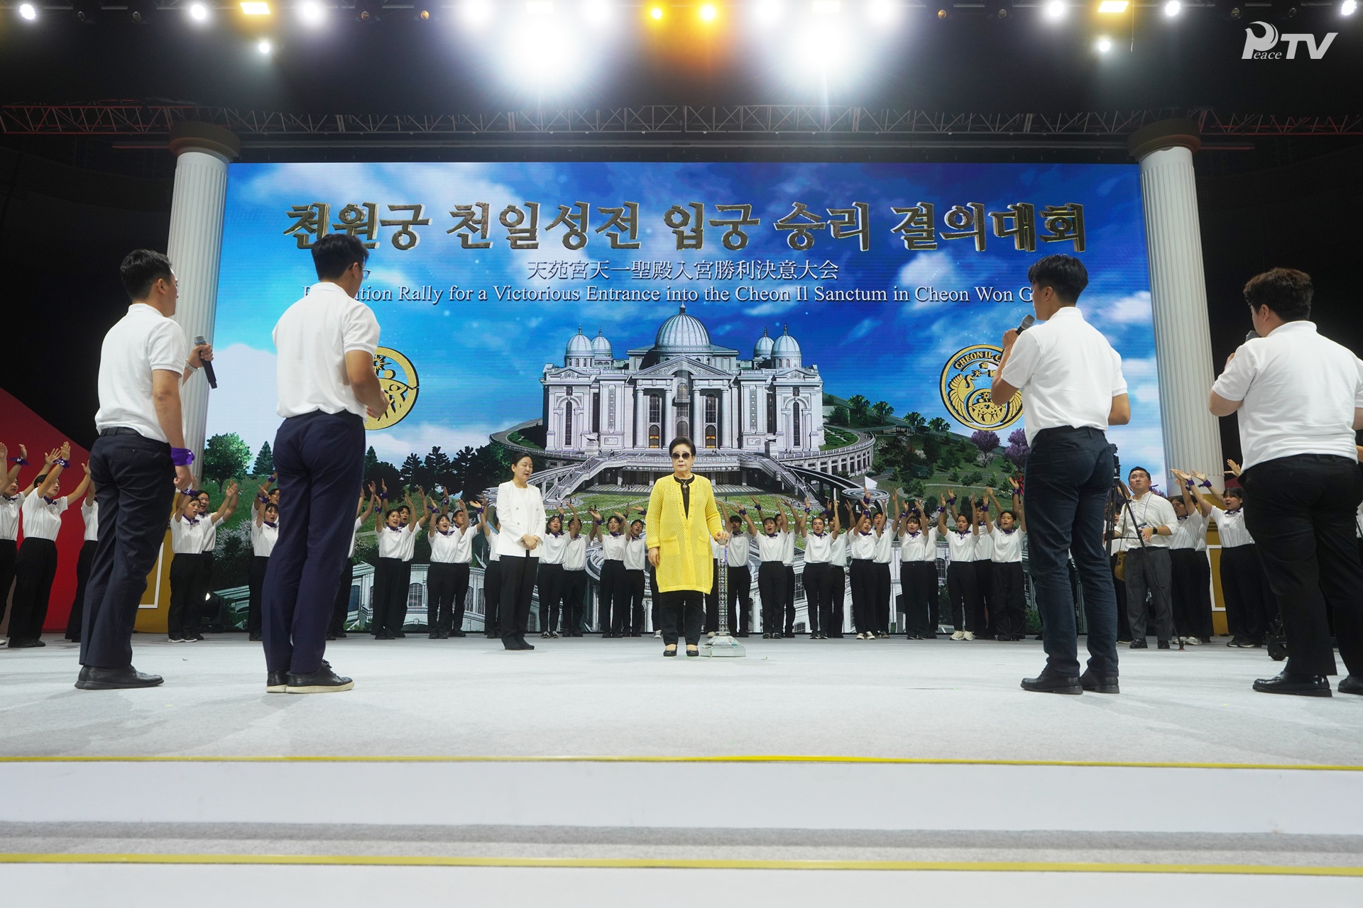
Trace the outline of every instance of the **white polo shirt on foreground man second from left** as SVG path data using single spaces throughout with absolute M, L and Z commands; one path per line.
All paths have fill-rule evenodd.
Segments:
M 353 412 L 364 417 L 345 369 L 345 354 L 360 350 L 371 357 L 379 347 L 379 321 L 369 306 L 338 285 L 319 282 L 289 306 L 274 325 L 278 351 L 277 412 Z

